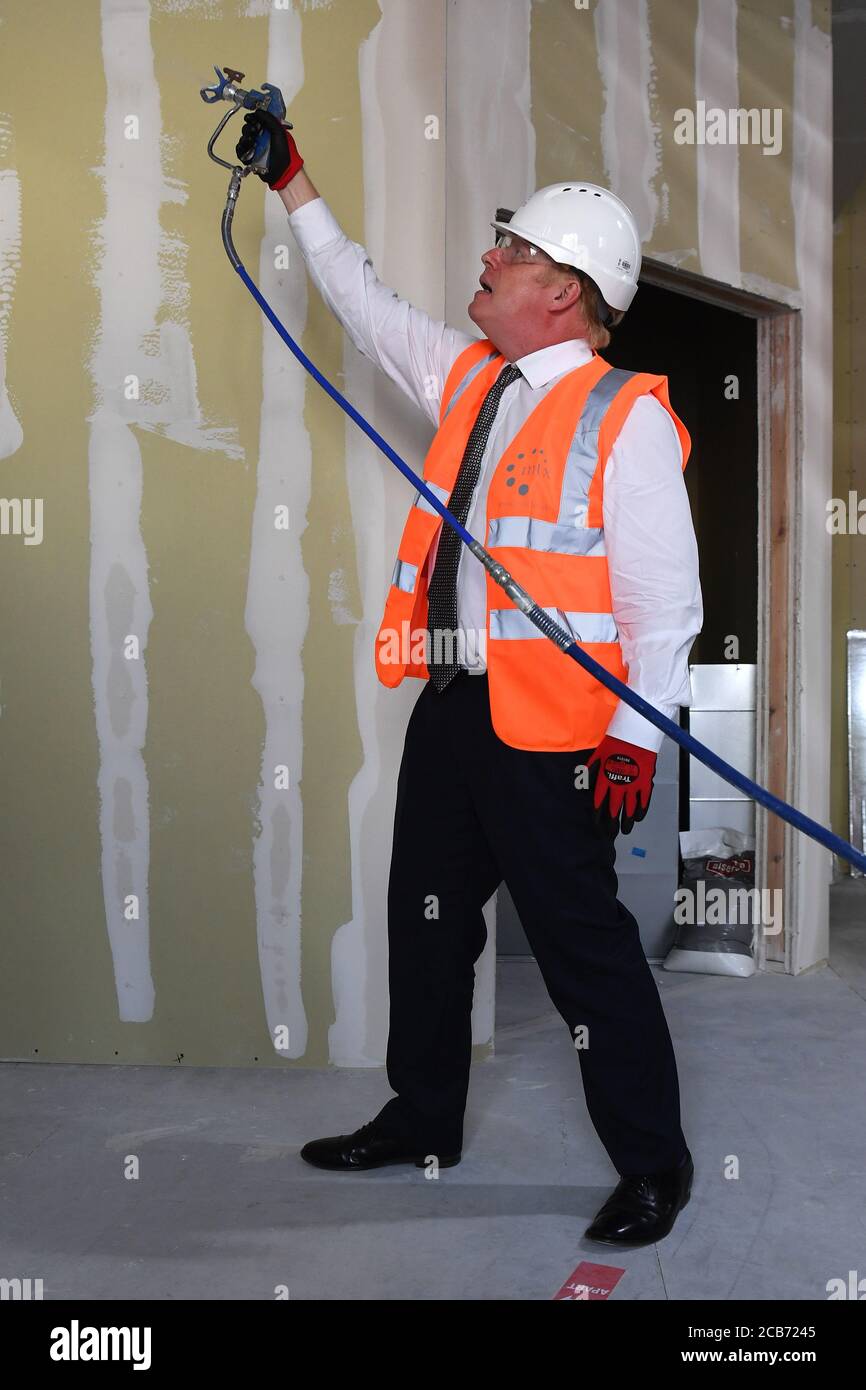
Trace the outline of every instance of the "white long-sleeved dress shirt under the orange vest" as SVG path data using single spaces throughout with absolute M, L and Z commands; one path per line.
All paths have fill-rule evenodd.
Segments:
M 399 299 L 350 240 L 322 197 L 288 214 L 313 284 L 354 346 L 391 377 L 438 427 L 445 381 L 459 354 L 477 338 L 449 328 Z M 521 378 L 506 386 L 481 461 L 466 530 L 484 545 L 487 489 L 495 461 L 535 406 L 566 371 L 589 361 L 580 338 L 539 348 L 514 363 Z M 420 467 L 416 471 L 421 471 Z M 445 525 L 445 523 L 442 523 Z M 703 623 L 698 545 L 673 421 L 655 396 L 631 407 L 605 470 L 603 528 L 613 616 L 627 684 L 676 720 L 691 703 L 688 653 Z M 435 563 L 434 541 L 428 573 Z M 484 566 L 463 546 L 457 570 L 457 626 L 480 632 L 487 619 Z M 545 641 L 541 638 L 541 641 Z M 484 670 L 485 652 L 471 635 L 464 664 Z M 567 657 L 563 657 L 564 660 Z M 607 734 L 657 752 L 664 735 L 624 701 Z

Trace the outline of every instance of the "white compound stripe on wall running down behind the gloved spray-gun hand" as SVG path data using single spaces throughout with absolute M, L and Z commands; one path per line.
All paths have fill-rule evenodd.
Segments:
M 271 10 L 267 72 L 286 108 L 303 86 L 302 21 L 296 13 Z M 264 78 L 261 79 L 264 81 Z M 246 196 L 253 202 L 254 189 Z M 217 210 L 214 208 L 214 218 Z M 217 221 L 214 221 L 214 232 Z M 288 270 L 275 268 L 274 246 L 288 245 Z M 228 260 L 224 275 L 232 275 Z M 265 196 L 259 272 L 253 275 L 293 338 L 307 317 L 303 257 L 296 249 L 279 199 Z M 302 534 L 310 502 L 311 446 L 304 427 L 307 377 L 260 316 L 261 411 L 259 467 L 246 630 L 256 652 L 253 687 L 261 699 L 264 746 L 259 784 L 260 834 L 253 841 L 253 890 L 259 970 L 268 1033 L 279 1056 L 307 1049 L 307 1017 L 300 979 L 300 894 L 303 866 L 303 667 L 302 648 L 310 624 L 309 580 Z M 289 443 L 291 442 L 291 443 Z M 288 531 L 274 525 L 275 507 L 289 507 Z M 274 769 L 289 769 L 289 787 L 274 785 Z M 288 1029 L 288 1045 L 281 1045 Z

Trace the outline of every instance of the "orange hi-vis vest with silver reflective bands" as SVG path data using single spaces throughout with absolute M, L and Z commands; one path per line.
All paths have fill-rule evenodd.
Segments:
M 439 428 L 424 460 L 424 481 L 445 506 L 481 403 L 505 363 L 482 338 L 460 353 L 448 374 Z M 539 607 L 624 682 L 628 669 L 610 598 L 603 482 L 631 406 L 649 392 L 670 413 L 685 467 L 691 441 L 671 409 L 667 378 L 623 371 L 594 353 L 548 391 L 500 455 L 487 495 L 485 532 L 478 537 Z M 441 525 L 446 523 L 418 489 L 375 639 L 384 685 L 399 685 L 405 676 L 430 678 L 427 560 Z M 601 742 L 619 696 L 544 637 L 489 574 L 484 637 L 491 719 L 505 744 L 566 752 Z

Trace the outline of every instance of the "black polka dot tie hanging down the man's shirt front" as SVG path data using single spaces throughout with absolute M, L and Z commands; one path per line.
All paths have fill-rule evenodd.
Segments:
M 466 525 L 470 502 L 481 474 L 481 457 L 489 439 L 493 420 L 499 409 L 502 392 L 520 377 L 520 368 L 507 363 L 488 391 L 478 418 L 468 436 L 457 481 L 455 482 L 448 510 Z M 430 678 L 438 691 L 443 691 L 460 670 L 457 660 L 457 566 L 463 541 L 448 521 L 442 523 L 436 564 L 428 589 L 428 659 Z M 439 634 L 436 637 L 436 634 Z

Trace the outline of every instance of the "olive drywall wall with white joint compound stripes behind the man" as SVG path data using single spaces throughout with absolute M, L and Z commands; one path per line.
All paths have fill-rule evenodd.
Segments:
M 19 63 L 35 47 L 50 103 Z M 411 489 L 228 267 L 199 99 L 214 63 L 284 88 L 345 231 L 456 327 L 473 331 L 493 208 L 574 174 L 634 206 L 648 253 L 802 306 L 795 799 L 826 820 L 828 13 L 3 8 L 1 492 L 40 500 L 42 535 L 0 537 L 0 1055 L 375 1066 L 393 791 L 420 688 L 377 684 L 373 635 Z M 674 113 L 698 100 L 778 108 L 781 149 L 678 143 Z M 304 350 L 420 463 L 430 427 L 310 291 L 282 204 L 253 179 L 236 242 Z M 796 855 L 803 967 L 826 951 L 827 856 Z M 492 1024 L 491 942 L 478 1055 Z

